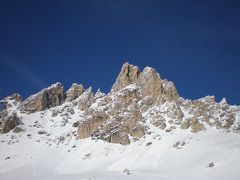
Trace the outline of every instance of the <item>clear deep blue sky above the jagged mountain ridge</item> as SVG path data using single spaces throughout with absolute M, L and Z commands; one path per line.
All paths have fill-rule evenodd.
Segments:
M 0 99 L 57 81 L 107 93 L 125 61 L 239 105 L 240 1 L 0 1 Z

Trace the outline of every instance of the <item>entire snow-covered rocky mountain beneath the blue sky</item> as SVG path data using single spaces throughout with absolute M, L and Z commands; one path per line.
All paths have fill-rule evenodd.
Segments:
M 184 99 L 150 67 L 125 63 L 108 94 L 56 83 L 0 107 L 3 180 L 240 176 L 240 107 Z

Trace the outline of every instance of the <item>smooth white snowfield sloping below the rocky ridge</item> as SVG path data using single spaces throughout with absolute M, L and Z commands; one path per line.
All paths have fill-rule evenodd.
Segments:
M 239 134 L 213 128 L 199 133 L 154 129 L 123 146 L 90 138 L 76 141 L 71 121 L 63 127 L 58 117 L 45 121 L 49 115 L 24 115 L 30 127 L 41 116 L 39 128 L 0 136 L 0 179 L 239 180 Z M 47 134 L 39 134 L 39 129 Z

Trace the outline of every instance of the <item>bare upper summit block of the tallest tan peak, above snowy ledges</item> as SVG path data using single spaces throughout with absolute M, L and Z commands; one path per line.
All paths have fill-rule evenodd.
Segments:
M 162 80 L 159 73 L 151 67 L 145 67 L 141 72 L 137 66 L 124 63 L 111 91 L 117 92 L 130 84 L 138 86 L 142 97 L 148 96 L 155 101 L 179 98 L 174 83 Z

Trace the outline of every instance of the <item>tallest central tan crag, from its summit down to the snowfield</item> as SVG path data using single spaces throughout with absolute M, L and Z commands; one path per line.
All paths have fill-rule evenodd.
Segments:
M 149 129 L 144 112 L 178 98 L 173 83 L 162 81 L 155 69 L 146 67 L 141 72 L 125 63 L 110 93 L 92 102 L 96 108 L 87 110 L 90 118 L 79 124 L 78 138 L 129 144 L 130 138 L 142 138 Z

